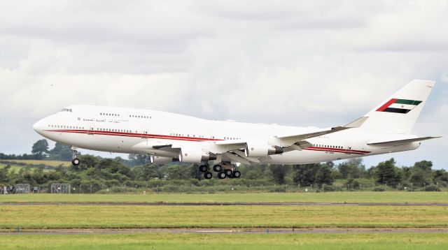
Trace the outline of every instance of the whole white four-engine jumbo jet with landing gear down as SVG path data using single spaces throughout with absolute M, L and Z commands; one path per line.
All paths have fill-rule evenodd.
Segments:
M 413 150 L 435 137 L 412 135 L 412 127 L 435 82 L 413 80 L 366 115 L 332 128 L 222 122 L 169 112 L 71 105 L 34 124 L 43 137 L 73 150 L 148 154 L 152 163 L 209 161 L 218 178 L 238 178 L 239 163 L 303 164 Z

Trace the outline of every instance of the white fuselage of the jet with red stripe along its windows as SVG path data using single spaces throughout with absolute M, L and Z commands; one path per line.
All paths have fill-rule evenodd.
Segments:
M 221 140 L 260 140 L 277 135 L 311 133 L 315 127 L 301 128 L 276 124 L 223 122 L 169 112 L 134 108 L 72 105 L 34 124 L 45 138 L 72 147 L 103 152 L 151 154 L 176 158 L 174 149 L 153 149 L 141 145 L 160 143 L 188 147 L 213 147 Z M 259 159 L 261 163 L 301 164 L 349 159 L 374 154 L 401 152 L 419 147 L 412 142 L 397 147 L 367 145 L 374 139 L 400 140 L 410 135 L 367 133 L 352 128 L 307 140 L 312 146 Z M 411 136 L 412 137 L 412 136 Z M 140 145 L 140 146 L 139 146 Z

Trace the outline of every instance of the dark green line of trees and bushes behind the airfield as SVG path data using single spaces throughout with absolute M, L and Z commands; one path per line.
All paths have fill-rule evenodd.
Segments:
M 46 140 L 45 140 L 46 141 Z M 48 149 L 48 143 L 39 140 L 39 150 L 34 150 L 34 159 L 71 160 L 69 146 L 57 143 Z M 36 143 L 33 149 L 36 149 Z M 43 150 L 45 149 L 45 150 Z M 440 191 L 448 188 L 448 172 L 433 170 L 431 161 L 419 161 L 413 166 L 398 167 L 394 159 L 388 159 L 366 168 L 362 159 L 350 159 L 339 164 L 333 162 L 313 163 L 295 166 L 257 164 L 241 165 L 239 179 L 204 179 L 197 164 L 182 165 L 171 163 L 162 166 L 149 162 L 148 156 L 130 154 L 128 159 L 102 159 L 99 156 L 79 156 L 79 166 L 22 166 L 13 168 L 8 159 L 18 159 L 15 155 L 0 154 L 0 185 L 27 183 L 41 186 L 43 189 L 53 183 L 69 183 L 76 192 L 130 191 L 131 189 L 150 188 L 160 191 L 188 191 L 186 187 L 200 186 L 265 186 L 273 191 L 290 189 L 317 189 L 322 191 L 361 190 L 367 186 L 372 190 L 385 189 Z M 215 174 L 216 176 L 216 174 Z M 128 189 L 122 189 L 122 187 Z M 184 189 L 179 187 L 183 186 Z M 268 188 L 269 186 L 269 188 Z M 275 187 L 273 187 L 275 186 Z M 201 189 L 197 189 L 201 190 Z

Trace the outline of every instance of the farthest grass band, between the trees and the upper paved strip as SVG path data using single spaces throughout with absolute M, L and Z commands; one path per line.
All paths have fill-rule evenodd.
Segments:
M 0 195 L 0 203 L 448 203 L 448 192 L 151 193 Z

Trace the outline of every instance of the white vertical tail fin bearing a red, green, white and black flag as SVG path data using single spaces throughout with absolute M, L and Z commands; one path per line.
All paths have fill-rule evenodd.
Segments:
M 365 115 L 360 129 L 377 133 L 409 134 L 425 105 L 435 81 L 412 80 Z

